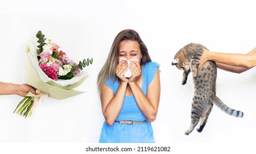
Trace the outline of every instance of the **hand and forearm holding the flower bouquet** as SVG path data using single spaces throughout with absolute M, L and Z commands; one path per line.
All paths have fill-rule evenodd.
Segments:
M 35 89 L 27 84 L 12 84 L 0 82 L 0 95 L 19 95 L 24 97 L 31 91 L 36 94 Z

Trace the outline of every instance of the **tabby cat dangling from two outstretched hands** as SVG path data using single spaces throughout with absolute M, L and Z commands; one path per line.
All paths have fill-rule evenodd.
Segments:
M 174 61 L 171 63 L 172 65 L 176 65 L 178 69 L 184 70 L 182 85 L 186 84 L 187 76 L 190 72 L 192 72 L 193 75 L 194 97 L 192 99 L 191 108 L 191 125 L 190 128 L 185 131 L 186 135 L 189 135 L 191 131 L 194 130 L 200 119 L 201 124 L 200 127 L 197 128 L 197 131 L 200 133 L 203 130 L 212 110 L 213 103 L 231 116 L 243 117 L 243 112 L 229 108 L 216 96 L 216 63 L 209 61 L 197 70 L 203 48 L 207 49 L 200 44 L 190 43 L 182 47 L 180 51 L 175 54 Z

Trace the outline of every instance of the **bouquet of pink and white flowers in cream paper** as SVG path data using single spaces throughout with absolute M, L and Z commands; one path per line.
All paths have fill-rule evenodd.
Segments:
M 31 116 L 35 103 L 43 95 L 62 100 L 82 94 L 72 89 L 87 78 L 88 74 L 82 70 L 93 62 L 92 58 L 87 58 L 77 64 L 60 50 L 60 46 L 50 39 L 46 40 L 41 31 L 38 31 L 36 37 L 40 43 L 37 47 L 32 41 L 27 43 L 29 63 L 25 79 L 27 84 L 36 88 L 37 95 L 29 93 L 14 110 L 25 118 Z

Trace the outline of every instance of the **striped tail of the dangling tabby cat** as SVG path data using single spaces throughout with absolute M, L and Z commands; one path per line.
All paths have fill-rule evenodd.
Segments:
M 228 107 L 227 105 L 225 105 L 220 98 L 218 98 L 217 96 L 213 97 L 212 102 L 218 106 L 219 108 L 222 109 L 222 111 L 226 112 L 227 114 L 229 114 L 230 116 L 234 116 L 234 117 L 238 117 L 238 118 L 242 118 L 243 117 L 243 112 L 242 111 L 237 111 L 235 109 L 232 109 L 230 107 Z

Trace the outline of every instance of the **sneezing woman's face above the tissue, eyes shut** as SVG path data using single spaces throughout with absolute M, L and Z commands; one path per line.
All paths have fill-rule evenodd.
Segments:
M 140 59 L 142 59 L 142 52 L 139 49 L 139 43 L 132 40 L 124 40 L 120 42 L 118 59 L 119 58 L 126 58 L 128 61 L 130 58 L 138 59 L 140 64 Z

